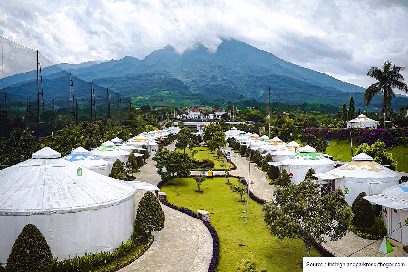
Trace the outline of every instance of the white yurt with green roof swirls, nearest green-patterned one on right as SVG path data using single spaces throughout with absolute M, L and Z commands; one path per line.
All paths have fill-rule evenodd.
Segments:
M 269 165 L 283 166 L 288 172 L 290 180 L 295 184 L 304 181 L 307 171 L 313 168 L 316 173 L 324 173 L 333 170 L 335 162 L 316 153 L 316 149 L 311 146 L 299 148 L 299 153 L 284 159 L 281 162 L 268 162 Z

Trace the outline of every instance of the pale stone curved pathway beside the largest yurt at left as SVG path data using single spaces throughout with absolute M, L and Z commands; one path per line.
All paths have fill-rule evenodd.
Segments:
M 174 145 L 174 144 L 173 144 Z M 174 147 L 173 147 L 174 149 Z M 136 180 L 157 185 L 161 180 L 155 161 L 146 161 Z M 138 205 L 144 191 L 137 191 Z M 137 206 L 136 206 L 137 207 Z M 213 239 L 206 226 L 199 220 L 162 204 L 164 228 L 152 233 L 153 244 L 139 259 L 120 272 L 207 272 L 213 256 Z

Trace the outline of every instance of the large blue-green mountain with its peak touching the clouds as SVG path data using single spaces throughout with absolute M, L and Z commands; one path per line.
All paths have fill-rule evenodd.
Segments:
M 286 62 L 237 40 L 223 40 L 216 52 L 197 45 L 180 55 L 173 47 L 166 46 L 153 51 L 143 60 L 126 56 L 101 63 L 50 66 L 43 69 L 48 69 L 45 72 L 47 80 L 64 80 L 59 85 L 54 84 L 61 88 L 53 90 L 53 96 L 60 91 L 68 95 L 66 88 L 62 88 L 67 81 L 61 74 L 67 72 L 58 70 L 61 68 L 85 82 L 93 81 L 99 86 L 109 87 L 111 91 L 120 92 L 121 96 L 143 97 L 140 103 L 165 103 L 169 99 L 168 103 L 182 104 L 181 101 L 184 101 L 186 106 L 193 102 L 211 105 L 214 101 L 229 103 L 248 98 L 266 102 L 270 86 L 271 101 L 316 102 L 333 104 L 338 108 L 353 96 L 356 107 L 364 107 L 364 88 Z M 5 81 L 21 86 L 24 78 L 27 82 L 27 79 L 34 80 L 35 75 L 13 75 Z M 74 88 L 79 88 L 84 97 L 89 96 L 86 89 L 89 87 L 80 84 L 74 84 Z M 44 91 L 44 99 L 46 96 Z M 397 96 L 393 100 L 394 107 L 406 104 L 407 97 Z M 370 108 L 380 108 L 380 105 L 381 97 L 376 97 Z

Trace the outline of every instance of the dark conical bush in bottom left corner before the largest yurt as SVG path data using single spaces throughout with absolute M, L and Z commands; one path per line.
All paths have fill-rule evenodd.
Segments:
M 51 249 L 33 224 L 28 224 L 18 235 L 6 264 L 7 272 L 51 272 Z

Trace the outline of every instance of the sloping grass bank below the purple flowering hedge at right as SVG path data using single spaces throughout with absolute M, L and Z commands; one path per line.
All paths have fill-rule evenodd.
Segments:
M 355 153 L 356 148 L 357 145 L 353 145 L 353 153 Z M 388 148 L 388 151 L 392 154 L 392 157 L 398 161 L 397 171 L 408 172 L 408 160 L 406 159 L 408 146 L 396 145 L 391 149 Z M 351 161 L 350 142 L 331 141 L 325 153 L 334 156 L 336 161 Z

